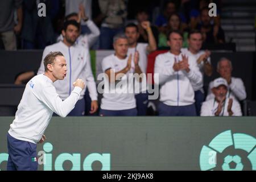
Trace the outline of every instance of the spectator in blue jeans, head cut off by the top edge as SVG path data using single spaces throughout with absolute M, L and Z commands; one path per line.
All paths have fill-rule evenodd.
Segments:
M 101 24 L 100 49 L 113 49 L 113 38 L 123 32 L 127 16 L 124 0 L 99 0 L 101 14 L 105 16 Z

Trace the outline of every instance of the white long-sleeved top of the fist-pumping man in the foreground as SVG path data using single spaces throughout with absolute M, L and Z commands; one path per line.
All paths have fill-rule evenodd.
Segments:
M 67 100 L 62 101 L 50 78 L 43 74 L 33 77 L 26 85 L 9 134 L 19 140 L 39 142 L 53 111 L 66 117 L 79 100 L 81 90 L 76 86 Z

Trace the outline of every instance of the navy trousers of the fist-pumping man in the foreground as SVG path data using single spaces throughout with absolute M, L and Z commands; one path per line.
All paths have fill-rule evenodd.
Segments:
M 35 143 L 18 140 L 8 133 L 7 147 L 9 153 L 7 171 L 36 171 L 38 169 Z

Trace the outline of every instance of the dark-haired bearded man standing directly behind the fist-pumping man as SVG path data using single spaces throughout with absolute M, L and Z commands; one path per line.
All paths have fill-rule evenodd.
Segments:
M 63 41 L 52 44 L 51 46 L 47 46 L 43 52 L 43 59 L 51 51 L 60 51 L 63 53 L 65 59 L 67 59 L 67 68 L 69 74 L 64 78 L 63 81 L 56 81 L 54 83 L 57 93 L 62 100 L 65 100 L 71 94 L 71 90 L 73 89 L 72 83 L 77 78 L 84 79 L 89 90 L 90 98 L 92 99 L 90 113 L 95 113 L 98 109 L 96 83 L 92 74 L 92 68 L 90 67 L 89 51 L 76 43 L 76 39 L 79 36 L 79 30 L 80 25 L 76 22 L 76 20 L 68 20 L 65 22 L 62 31 L 64 38 Z M 38 75 L 44 72 L 43 59 L 38 70 Z M 85 89 L 82 90 L 79 101 L 77 101 L 75 108 L 71 111 L 71 113 L 69 113 L 69 115 L 84 115 L 84 94 Z

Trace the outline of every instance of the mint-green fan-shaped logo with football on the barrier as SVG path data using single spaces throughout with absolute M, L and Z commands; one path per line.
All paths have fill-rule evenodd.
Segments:
M 200 153 L 202 171 L 256 171 L 256 139 L 243 133 L 224 131 L 203 146 Z

